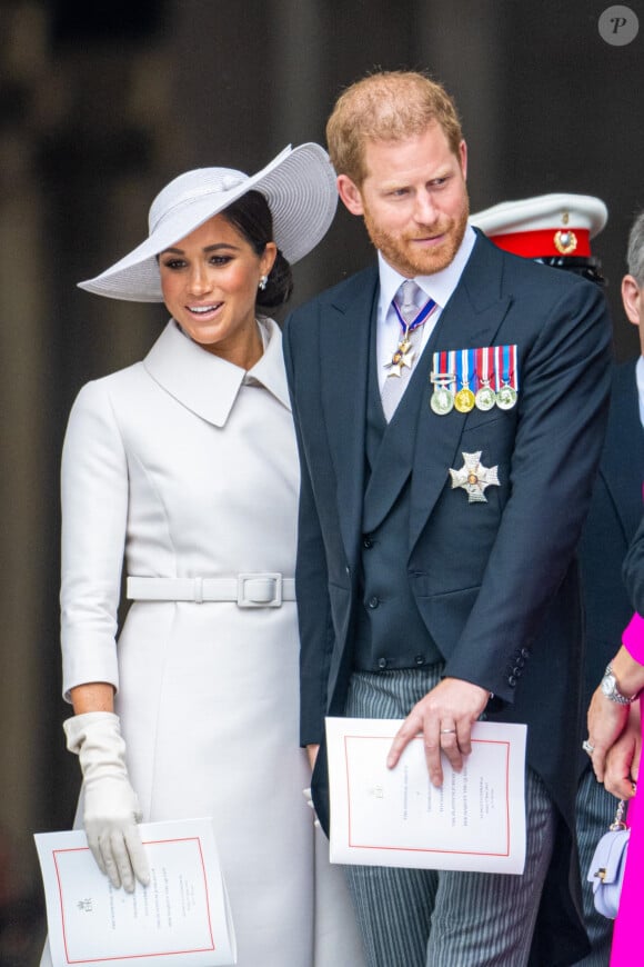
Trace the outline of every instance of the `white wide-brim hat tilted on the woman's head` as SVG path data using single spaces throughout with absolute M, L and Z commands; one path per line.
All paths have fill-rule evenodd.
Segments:
M 145 241 L 79 287 L 110 299 L 162 302 L 157 256 L 251 190 L 265 197 L 273 217 L 273 240 L 291 265 L 318 245 L 333 221 L 335 175 L 320 144 L 289 146 L 256 175 L 198 168 L 159 192 L 150 207 Z

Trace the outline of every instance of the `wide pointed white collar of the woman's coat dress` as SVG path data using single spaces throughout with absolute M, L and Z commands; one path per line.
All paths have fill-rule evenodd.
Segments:
M 282 333 L 272 319 L 263 318 L 265 342 L 261 359 L 248 372 L 208 352 L 170 319 L 143 360 L 152 379 L 197 416 L 223 427 L 242 385 L 263 387 L 291 409 L 282 357 Z

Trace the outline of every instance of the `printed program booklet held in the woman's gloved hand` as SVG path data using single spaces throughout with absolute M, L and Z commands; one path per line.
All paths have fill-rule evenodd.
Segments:
M 151 878 L 132 894 L 111 886 L 82 830 L 36 835 L 52 967 L 233 965 L 234 928 L 210 819 L 140 830 Z

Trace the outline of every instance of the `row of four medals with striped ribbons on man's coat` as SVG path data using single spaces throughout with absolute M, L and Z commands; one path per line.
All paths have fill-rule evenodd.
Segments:
M 510 410 L 519 397 L 516 346 L 434 352 L 430 382 L 430 406 L 439 416 L 453 409 L 467 413 L 474 407 Z

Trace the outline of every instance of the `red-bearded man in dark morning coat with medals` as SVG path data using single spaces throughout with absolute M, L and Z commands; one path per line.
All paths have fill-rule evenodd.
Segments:
M 462 769 L 479 718 L 525 722 L 521 876 L 346 875 L 370 967 L 571 964 L 586 945 L 574 555 L 606 416 L 605 301 L 467 226 L 456 109 L 423 74 L 353 84 L 326 134 L 378 266 L 285 327 L 315 809 L 328 830 L 326 715 L 404 719 L 388 765 L 422 735 L 434 786 L 442 757 Z

